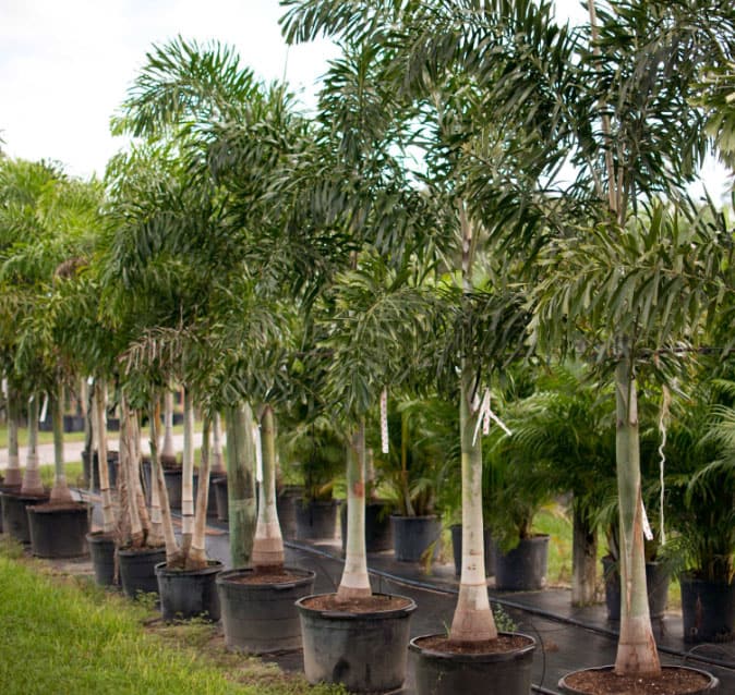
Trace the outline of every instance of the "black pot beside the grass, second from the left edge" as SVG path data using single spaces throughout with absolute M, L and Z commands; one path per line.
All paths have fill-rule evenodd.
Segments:
M 81 558 L 89 553 L 87 534 L 92 504 L 28 505 L 31 551 L 37 558 Z

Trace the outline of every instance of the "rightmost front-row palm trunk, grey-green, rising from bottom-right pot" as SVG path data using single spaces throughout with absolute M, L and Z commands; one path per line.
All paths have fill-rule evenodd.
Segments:
M 648 607 L 638 403 L 629 354 L 617 363 L 615 392 L 615 451 L 620 528 L 620 636 L 615 672 L 622 675 L 655 675 L 661 672 L 661 663 Z

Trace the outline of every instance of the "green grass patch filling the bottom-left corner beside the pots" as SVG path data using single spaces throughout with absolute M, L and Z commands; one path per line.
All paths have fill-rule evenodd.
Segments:
M 51 574 L 0 542 L 0 684 L 4 695 L 342 693 L 309 686 L 225 650 L 204 624 L 146 627 L 152 614 L 87 578 Z

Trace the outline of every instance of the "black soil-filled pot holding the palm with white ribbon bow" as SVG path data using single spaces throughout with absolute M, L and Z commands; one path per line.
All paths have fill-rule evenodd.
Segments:
M 415 637 L 409 651 L 417 695 L 528 695 L 534 649 L 535 641 L 520 633 L 477 645 L 454 645 L 446 635 Z

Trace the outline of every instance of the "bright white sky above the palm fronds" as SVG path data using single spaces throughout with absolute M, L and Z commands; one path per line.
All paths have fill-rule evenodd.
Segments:
M 578 0 L 556 5 L 559 19 L 586 19 Z M 325 40 L 287 47 L 281 14 L 278 0 L 0 0 L 0 147 L 101 176 L 125 144 L 110 135 L 110 117 L 146 51 L 177 35 L 233 46 L 256 76 L 286 76 L 311 108 L 337 50 Z M 710 162 L 715 197 L 724 179 Z

